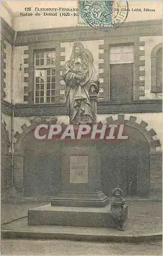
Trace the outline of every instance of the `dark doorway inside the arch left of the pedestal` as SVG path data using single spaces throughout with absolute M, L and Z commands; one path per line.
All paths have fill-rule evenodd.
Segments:
M 42 197 L 59 193 L 61 148 L 57 142 L 29 140 L 24 148 L 24 196 Z

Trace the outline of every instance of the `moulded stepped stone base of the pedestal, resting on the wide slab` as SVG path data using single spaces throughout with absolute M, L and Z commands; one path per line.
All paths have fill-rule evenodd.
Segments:
M 102 191 L 97 193 L 61 192 L 52 199 L 51 206 L 104 207 L 108 202 L 108 197 Z

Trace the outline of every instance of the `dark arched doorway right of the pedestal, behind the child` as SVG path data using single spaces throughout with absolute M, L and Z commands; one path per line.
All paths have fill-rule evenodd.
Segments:
M 119 186 L 125 195 L 148 196 L 150 187 L 149 144 L 145 136 L 126 126 L 126 141 L 101 143 L 102 187 L 106 195 Z

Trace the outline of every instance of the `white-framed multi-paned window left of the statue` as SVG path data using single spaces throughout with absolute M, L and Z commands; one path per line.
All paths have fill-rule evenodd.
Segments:
M 53 103 L 56 95 L 56 51 L 35 52 L 35 103 Z

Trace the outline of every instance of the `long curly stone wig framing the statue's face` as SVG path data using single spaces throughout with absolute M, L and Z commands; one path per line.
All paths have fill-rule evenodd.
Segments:
M 82 56 L 83 62 L 85 64 L 85 66 L 88 67 L 88 59 L 89 59 L 89 57 L 88 57 L 88 55 L 85 52 L 85 48 L 84 48 L 84 45 L 82 44 L 82 42 L 75 42 L 73 44 L 72 53 L 71 53 L 71 56 L 70 56 L 70 59 L 69 59 L 71 66 L 74 66 L 74 56 L 75 56 L 75 52 L 74 51 L 75 51 L 76 47 L 80 48 L 80 51 L 82 52 L 81 56 Z

